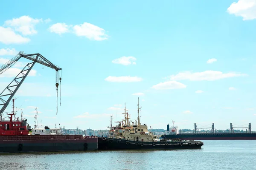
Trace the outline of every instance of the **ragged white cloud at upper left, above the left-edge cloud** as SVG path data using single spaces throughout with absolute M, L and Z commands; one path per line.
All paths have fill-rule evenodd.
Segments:
M 19 18 L 13 18 L 5 22 L 6 26 L 14 27 L 16 31 L 21 32 L 23 35 L 37 34 L 35 25 L 43 22 L 42 19 L 34 19 L 29 16 L 21 16 Z

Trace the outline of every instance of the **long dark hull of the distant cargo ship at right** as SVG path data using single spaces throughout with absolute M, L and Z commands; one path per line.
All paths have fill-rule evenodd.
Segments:
M 161 137 L 182 140 L 256 140 L 256 133 L 180 133 Z

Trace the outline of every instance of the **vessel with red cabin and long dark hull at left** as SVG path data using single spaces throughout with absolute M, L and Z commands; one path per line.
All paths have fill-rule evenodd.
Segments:
M 26 119 L 8 113 L 10 120 L 0 116 L 0 153 L 88 151 L 97 150 L 98 138 L 83 135 L 30 135 Z

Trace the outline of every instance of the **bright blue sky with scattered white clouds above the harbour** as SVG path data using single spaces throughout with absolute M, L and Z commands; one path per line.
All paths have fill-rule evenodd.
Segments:
M 43 125 L 106 129 L 125 102 L 137 119 L 140 97 L 152 128 L 175 120 L 256 130 L 255 11 L 256 0 L 10 0 L 1 3 L 0 65 L 24 51 L 62 68 L 57 115 L 53 69 L 37 63 L 16 93 L 31 125 L 37 107 Z M 0 75 L 0 91 L 29 60 L 19 62 Z

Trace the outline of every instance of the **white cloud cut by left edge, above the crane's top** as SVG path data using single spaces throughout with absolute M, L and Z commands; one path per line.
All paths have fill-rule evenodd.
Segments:
M 4 28 L 0 26 L 0 42 L 4 44 L 22 44 L 29 41 L 29 38 L 16 34 L 12 28 Z

